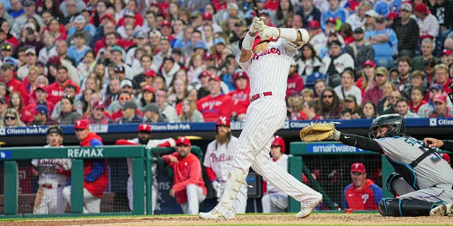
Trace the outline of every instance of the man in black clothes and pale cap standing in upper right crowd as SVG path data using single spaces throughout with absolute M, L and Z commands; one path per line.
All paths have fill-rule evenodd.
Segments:
M 391 25 L 391 28 L 396 32 L 396 37 L 398 37 L 399 56 L 415 57 L 414 49 L 418 46 L 419 40 L 418 35 L 413 34 L 418 34 L 420 28 L 418 28 L 417 22 L 411 16 L 411 3 L 403 3 L 399 11 L 400 19 L 395 20 L 394 24 Z

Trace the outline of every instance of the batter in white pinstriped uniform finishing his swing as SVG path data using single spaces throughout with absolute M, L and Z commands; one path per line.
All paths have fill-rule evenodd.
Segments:
M 250 30 L 239 42 L 241 53 L 236 61 L 250 78 L 251 104 L 224 194 L 219 204 L 208 213 L 200 213 L 200 218 L 229 220 L 235 217 L 234 200 L 239 187 L 246 185 L 250 167 L 278 190 L 301 203 L 302 210 L 296 215 L 298 218 L 308 216 L 322 201 L 321 194 L 269 161 L 273 135 L 282 128 L 286 117 L 285 92 L 291 59 L 297 49 L 309 41 L 309 33 L 304 29 L 269 28 L 263 20 L 254 18 Z M 257 31 L 260 36 L 255 39 Z M 278 40 L 272 42 L 268 40 L 270 38 Z M 254 42 L 256 46 L 253 46 Z

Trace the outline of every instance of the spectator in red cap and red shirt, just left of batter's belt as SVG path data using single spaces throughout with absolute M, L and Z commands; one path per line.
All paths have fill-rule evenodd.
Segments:
M 231 99 L 233 99 L 231 117 L 235 121 L 243 121 L 246 119 L 247 108 L 250 105 L 250 80 L 245 71 L 234 73 L 234 85 L 236 89 L 228 93 Z

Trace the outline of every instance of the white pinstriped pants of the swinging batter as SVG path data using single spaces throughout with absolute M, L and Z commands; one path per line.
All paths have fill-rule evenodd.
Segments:
M 291 196 L 304 206 L 316 206 L 322 195 L 292 177 L 282 167 L 269 161 L 270 145 L 275 132 L 282 129 L 286 118 L 286 103 L 284 95 L 260 97 L 251 102 L 247 109 L 247 120 L 241 136 L 239 136 L 233 167 L 248 174 L 252 167 L 276 189 Z M 223 200 L 223 197 L 222 197 Z M 234 218 L 234 210 L 219 204 L 215 207 L 225 218 Z

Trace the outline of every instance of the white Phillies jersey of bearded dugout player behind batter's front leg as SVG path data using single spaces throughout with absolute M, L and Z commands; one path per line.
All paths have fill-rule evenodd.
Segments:
M 210 167 L 219 181 L 226 182 L 228 171 L 234 163 L 234 151 L 238 145 L 238 138 L 231 136 L 228 143 L 219 144 L 217 141 L 212 141 L 207 145 L 205 160 L 203 165 Z

